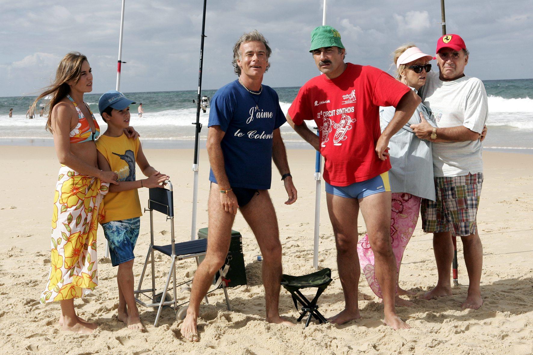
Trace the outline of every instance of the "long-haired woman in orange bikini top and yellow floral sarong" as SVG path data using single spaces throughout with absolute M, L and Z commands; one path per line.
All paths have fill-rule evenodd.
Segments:
M 59 63 L 52 85 L 33 104 L 52 95 L 46 129 L 53 134 L 61 163 L 53 205 L 51 269 L 41 303 L 60 301 L 59 324 L 77 333 L 96 328 L 76 315 L 74 299 L 98 284 L 98 209 L 109 183 L 116 184 L 117 179 L 115 172 L 101 171 L 96 162 L 94 138 L 99 127 L 83 101 L 84 93 L 92 91 L 92 82 L 87 57 L 69 53 Z

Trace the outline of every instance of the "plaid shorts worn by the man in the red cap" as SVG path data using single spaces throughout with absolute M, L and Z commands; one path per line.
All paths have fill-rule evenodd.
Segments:
M 437 201 L 422 199 L 422 228 L 426 233 L 451 232 L 469 236 L 478 231 L 478 214 L 483 173 L 435 177 Z

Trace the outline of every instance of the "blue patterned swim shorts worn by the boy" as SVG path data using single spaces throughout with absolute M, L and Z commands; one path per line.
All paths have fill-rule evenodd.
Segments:
M 109 244 L 109 255 L 111 255 L 113 266 L 135 259 L 133 249 L 139 236 L 140 226 L 140 217 L 102 224 L 103 234 Z

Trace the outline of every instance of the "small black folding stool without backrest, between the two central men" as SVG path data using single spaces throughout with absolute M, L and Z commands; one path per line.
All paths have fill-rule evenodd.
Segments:
M 293 298 L 294 306 L 296 310 L 300 313 L 300 318 L 298 321 L 301 321 L 307 313 L 309 316 L 305 321 L 304 329 L 309 325 L 311 317 L 318 320 L 318 323 L 327 323 L 326 318 L 318 311 L 317 301 L 322 292 L 326 290 L 326 287 L 332 282 L 332 270 L 329 268 L 322 269 L 316 273 L 303 275 L 303 276 L 292 276 L 292 275 L 282 275 L 281 286 L 285 288 Z M 314 298 L 309 301 L 305 295 L 300 292 L 301 288 L 317 287 L 317 294 Z M 298 303 L 302 305 L 302 311 L 298 308 Z

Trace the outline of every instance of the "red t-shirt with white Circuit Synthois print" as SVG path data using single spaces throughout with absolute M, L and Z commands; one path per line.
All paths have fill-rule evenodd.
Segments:
M 333 80 L 319 75 L 300 88 L 288 113 L 296 125 L 317 123 L 328 184 L 348 186 L 391 168 L 375 151 L 379 106 L 397 106 L 409 91 L 383 70 L 352 63 Z

